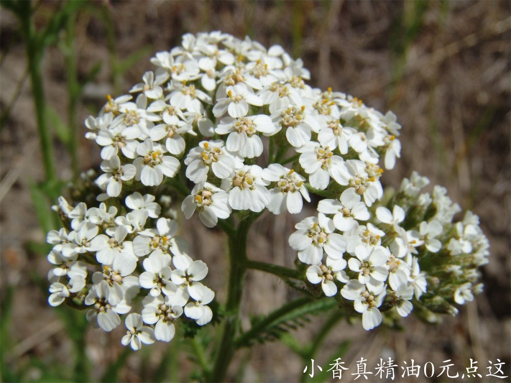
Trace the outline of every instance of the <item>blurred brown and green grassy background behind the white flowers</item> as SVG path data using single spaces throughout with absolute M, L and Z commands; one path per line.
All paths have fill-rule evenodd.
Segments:
M 412 170 L 446 186 L 461 207 L 473 210 L 490 239 L 484 292 L 439 325 L 413 318 L 403 330 L 340 322 L 321 346 L 316 364 L 328 370 L 342 351 L 373 370 L 380 357 L 404 366 L 432 362 L 437 375 L 451 360 L 459 374 L 469 358 L 482 379 L 489 361 L 511 375 L 510 340 L 510 30 L 508 1 L 110 1 L 2 2 L 0 13 L 0 368 L 3 381 L 188 381 L 195 365 L 182 334 L 169 345 L 124 350 L 124 326 L 92 329 L 84 313 L 48 303 L 45 232 L 54 228 L 50 206 L 66 182 L 100 163 L 83 138 L 84 119 L 125 94 L 158 51 L 181 43 L 184 33 L 221 30 L 250 36 L 266 47 L 281 44 L 311 71 L 312 86 L 352 94 L 402 125 L 401 160 L 382 177 L 399 187 Z M 32 14 L 29 11 L 32 10 Z M 27 47 L 29 47 L 27 49 Z M 34 67 L 35 66 L 35 67 Z M 37 69 L 40 68 L 40 71 Z M 39 77 L 34 73 L 39 73 Z M 34 78 L 38 84 L 33 98 Z M 35 101 L 35 102 L 34 102 Z M 41 119 L 40 110 L 45 110 Z M 41 130 L 41 124 L 43 126 Z M 43 135 L 50 159 L 41 152 Z M 75 138 L 76 137 L 76 138 Z M 48 161 L 52 161 L 49 166 Z M 54 169 L 54 172 L 49 171 Z M 304 214 L 307 214 L 304 211 Z M 197 217 L 194 217 L 196 219 Z M 252 259 L 292 266 L 287 245 L 301 217 L 266 213 L 252 228 Z M 207 284 L 224 302 L 225 238 L 190 220 L 182 235 L 192 257 L 210 267 Z M 247 275 L 244 326 L 289 299 L 289 288 L 260 272 Z M 293 332 L 314 342 L 321 316 Z M 207 336 L 201 335 L 207 343 Z M 348 343 L 343 343 L 348 341 Z M 290 341 L 288 340 L 288 343 Z M 341 348 L 339 348 L 341 346 Z M 344 347 L 346 346 L 346 347 Z M 341 356 L 341 355 L 338 355 Z M 308 361 L 310 365 L 310 361 Z M 312 381 L 311 366 L 280 343 L 242 349 L 229 370 L 233 381 Z M 316 370 L 317 371 L 317 370 Z M 425 381 L 401 377 L 393 381 Z M 328 375 L 331 378 L 331 375 Z M 373 375 L 375 376 L 375 375 Z M 423 375 L 421 375 L 423 376 Z M 374 377 L 369 381 L 384 381 Z M 429 381 L 455 381 L 445 374 Z M 469 380 L 463 380 L 469 381 Z

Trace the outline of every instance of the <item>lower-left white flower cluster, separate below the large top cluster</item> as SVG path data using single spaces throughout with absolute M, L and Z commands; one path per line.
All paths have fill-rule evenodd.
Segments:
M 61 197 L 54 209 L 68 229 L 47 236 L 54 245 L 48 260 L 55 265 L 48 276 L 50 305 L 84 303 L 90 306 L 87 320 L 111 331 L 121 324 L 120 315 L 132 311 L 135 297 L 145 294 L 142 312 L 126 318 L 122 343 L 134 350 L 141 342 L 171 341 L 182 314 L 201 326 L 213 317 L 207 304 L 215 293 L 200 282 L 207 266 L 188 255 L 188 243 L 176 236 L 176 221 L 158 218 L 160 205 L 154 200 L 148 194 L 129 195 L 122 216 L 104 203 L 70 206 Z

